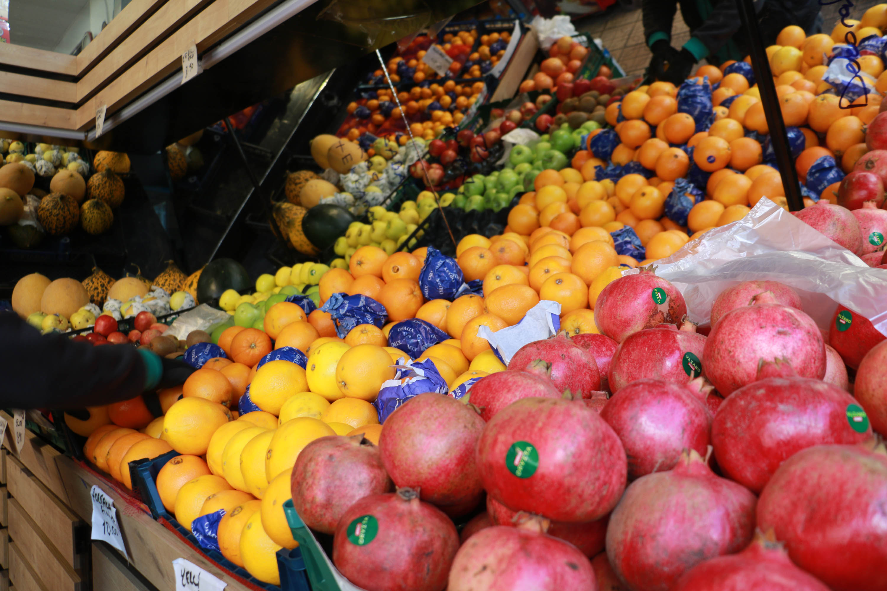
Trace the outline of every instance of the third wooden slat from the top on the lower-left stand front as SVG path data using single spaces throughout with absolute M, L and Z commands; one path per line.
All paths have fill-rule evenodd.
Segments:
M 82 590 L 80 576 L 15 499 L 9 502 L 9 535 L 46 587 L 53 591 Z

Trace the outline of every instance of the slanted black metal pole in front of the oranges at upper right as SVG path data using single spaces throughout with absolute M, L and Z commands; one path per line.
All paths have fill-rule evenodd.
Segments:
M 785 198 L 789 202 L 789 210 L 793 212 L 804 209 L 804 198 L 801 197 L 801 189 L 797 183 L 797 170 L 795 162 L 791 158 L 789 136 L 785 131 L 785 123 L 782 121 L 782 111 L 779 106 L 779 97 L 776 96 L 776 86 L 773 84 L 773 73 L 770 71 L 770 61 L 761 40 L 761 32 L 757 27 L 755 7 L 751 0 L 736 0 L 739 16 L 742 19 L 742 28 L 749 39 L 749 53 L 751 56 L 751 68 L 757 79 L 757 89 L 761 93 L 761 102 L 764 104 L 764 114 L 767 118 L 767 127 L 770 128 L 770 142 L 773 144 L 773 152 L 776 154 L 776 166 L 782 176 L 782 188 L 785 190 Z

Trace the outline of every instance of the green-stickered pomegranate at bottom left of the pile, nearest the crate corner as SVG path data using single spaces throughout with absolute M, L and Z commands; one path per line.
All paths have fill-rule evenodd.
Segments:
M 335 529 L 333 564 L 367 591 L 443 591 L 458 549 L 450 517 L 421 502 L 418 492 L 399 488 L 345 511 Z

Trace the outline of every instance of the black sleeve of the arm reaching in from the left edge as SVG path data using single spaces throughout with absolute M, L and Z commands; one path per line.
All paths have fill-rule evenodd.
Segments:
M 0 314 L 0 408 L 83 408 L 129 400 L 145 387 L 145 363 L 129 345 L 92 346 L 41 335 Z

